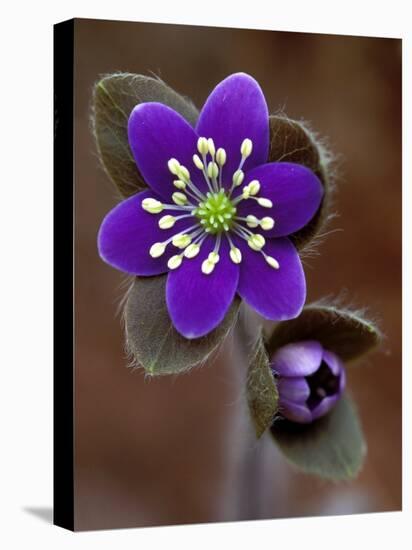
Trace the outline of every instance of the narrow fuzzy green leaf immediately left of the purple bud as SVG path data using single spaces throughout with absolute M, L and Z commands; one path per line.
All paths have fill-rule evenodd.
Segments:
M 250 414 L 259 438 L 271 426 L 278 405 L 278 391 L 261 336 L 249 360 L 246 391 Z

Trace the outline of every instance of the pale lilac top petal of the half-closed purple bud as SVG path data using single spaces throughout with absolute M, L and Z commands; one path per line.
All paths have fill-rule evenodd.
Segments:
M 321 344 L 316 340 L 287 344 L 272 357 L 271 367 L 280 376 L 309 376 L 320 367 L 322 351 Z

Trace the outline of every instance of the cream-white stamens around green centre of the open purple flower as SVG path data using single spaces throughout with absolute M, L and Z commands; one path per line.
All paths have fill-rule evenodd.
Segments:
M 171 178 L 172 203 L 164 204 L 154 198 L 145 198 L 141 203 L 142 208 L 150 214 L 166 211 L 158 220 L 160 229 L 171 229 L 176 222 L 184 218 L 192 218 L 194 223 L 184 231 L 177 231 L 166 240 L 154 243 L 149 249 L 152 258 L 161 257 L 167 247 L 173 245 L 181 252 L 172 255 L 167 265 L 169 269 L 177 269 L 183 261 L 195 258 L 201 252 L 205 239 L 212 236 L 215 238 L 214 248 L 201 263 L 202 273 L 210 275 L 220 261 L 219 251 L 223 238 L 229 243 L 231 261 L 235 264 L 242 262 L 242 253 L 232 240 L 235 235 L 245 240 L 252 250 L 262 254 L 270 267 L 279 269 L 278 261 L 264 251 L 265 237 L 251 231 L 259 227 L 263 231 L 270 231 L 275 225 L 275 220 L 270 216 L 259 219 L 254 214 L 246 217 L 237 214 L 237 205 L 246 200 L 256 201 L 262 208 L 273 207 L 270 199 L 259 196 L 262 186 L 257 179 L 249 181 L 236 191 L 243 184 L 243 165 L 252 151 L 252 141 L 244 139 L 240 145 L 238 168 L 233 174 L 225 174 L 223 177 L 227 162 L 225 149 L 216 149 L 212 138 L 200 137 L 197 141 L 197 153 L 193 155 L 192 160 L 195 170 L 202 173 L 207 191 L 199 189 L 193 183 L 189 169 L 177 159 L 171 158 L 168 161 L 168 169 L 174 176 Z M 178 215 L 173 215 L 170 211 L 177 211 Z

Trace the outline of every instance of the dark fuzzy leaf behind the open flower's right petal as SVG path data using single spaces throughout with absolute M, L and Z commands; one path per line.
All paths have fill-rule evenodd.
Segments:
M 330 158 L 325 146 L 304 124 L 286 116 L 270 117 L 269 162 L 294 162 L 312 170 L 322 182 L 324 197 L 314 218 L 291 236 L 298 249 L 305 248 L 325 226 L 332 191 Z

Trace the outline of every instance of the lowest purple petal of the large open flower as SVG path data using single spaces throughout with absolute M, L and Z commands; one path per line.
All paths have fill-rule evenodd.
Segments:
M 224 318 L 235 296 L 239 266 L 229 257 L 227 240 L 219 250 L 220 261 L 212 273 L 202 273 L 202 262 L 213 250 L 215 238 L 208 237 L 199 254 L 184 259 L 170 271 L 166 302 L 173 324 L 186 338 L 199 338 L 213 330 Z

